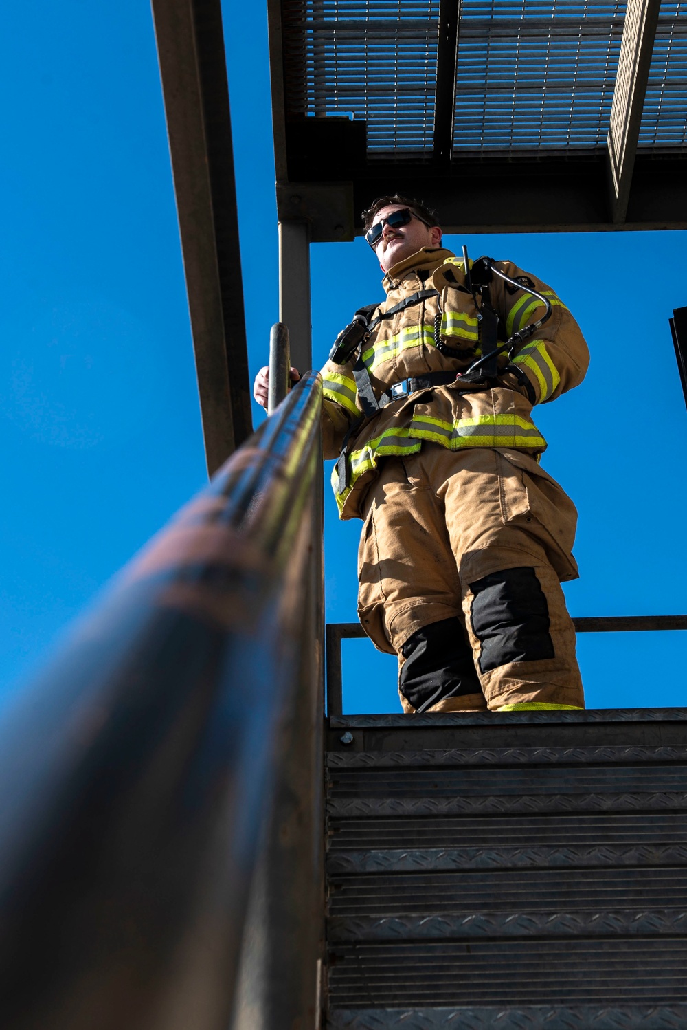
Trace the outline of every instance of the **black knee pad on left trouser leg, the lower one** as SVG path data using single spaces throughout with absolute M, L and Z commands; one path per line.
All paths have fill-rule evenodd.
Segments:
M 424 711 L 444 697 L 481 693 L 472 648 L 465 627 L 456 617 L 418 629 L 401 651 L 405 662 L 398 686 L 417 711 Z

